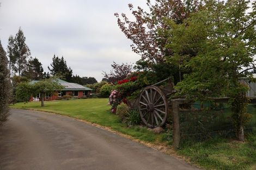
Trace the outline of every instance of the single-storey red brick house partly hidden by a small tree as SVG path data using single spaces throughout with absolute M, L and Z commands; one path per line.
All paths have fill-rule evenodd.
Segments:
M 56 91 L 53 93 L 47 93 L 45 94 L 45 100 L 56 100 L 60 97 L 63 97 L 65 95 L 70 95 L 70 96 L 74 96 L 77 98 L 82 98 L 85 96 L 90 95 L 90 93 L 92 92 L 92 89 L 82 86 L 80 84 L 77 83 L 69 83 L 67 81 L 61 80 L 61 79 L 57 79 L 58 83 L 62 86 L 64 86 L 64 89 L 62 89 L 61 91 Z M 40 80 L 33 80 L 31 81 L 31 83 L 36 83 Z M 34 97 L 32 97 L 30 100 L 31 101 L 39 101 L 40 100 L 41 95 L 38 94 Z

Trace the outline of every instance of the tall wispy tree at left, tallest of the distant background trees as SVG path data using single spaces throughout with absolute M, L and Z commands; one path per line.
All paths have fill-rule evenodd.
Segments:
M 18 73 L 20 76 L 27 68 L 27 59 L 31 55 L 31 52 L 26 45 L 26 37 L 21 28 L 18 33 L 13 37 L 9 37 L 8 43 L 8 56 L 9 56 L 9 68 L 12 68 L 13 72 Z M 11 72 L 10 72 L 11 73 Z

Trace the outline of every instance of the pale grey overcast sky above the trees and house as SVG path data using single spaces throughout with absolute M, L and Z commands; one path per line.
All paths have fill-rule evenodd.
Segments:
M 64 56 L 73 74 L 102 79 L 113 61 L 135 62 L 140 56 L 130 48 L 117 25 L 114 12 L 131 14 L 127 4 L 145 7 L 145 0 L 0 0 L 0 39 L 19 27 L 26 43 L 48 71 L 53 54 Z

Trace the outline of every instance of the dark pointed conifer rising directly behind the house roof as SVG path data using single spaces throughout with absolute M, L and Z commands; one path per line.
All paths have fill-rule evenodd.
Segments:
M 57 75 L 61 79 L 71 82 L 72 81 L 72 69 L 66 64 L 66 60 L 53 55 L 51 67 L 48 66 L 51 75 Z

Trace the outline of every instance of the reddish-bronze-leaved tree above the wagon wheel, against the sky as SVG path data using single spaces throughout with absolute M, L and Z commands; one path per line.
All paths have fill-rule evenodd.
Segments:
M 173 75 L 175 81 L 179 81 L 179 67 L 165 62 L 166 56 L 173 54 L 172 49 L 165 48 L 168 40 L 166 30 L 169 28 L 165 20 L 172 19 L 176 24 L 181 24 L 192 11 L 201 7 L 200 0 L 147 0 L 147 6 L 146 10 L 141 7 L 135 9 L 129 4 L 135 20 L 126 14 L 115 13 L 118 26 L 132 41 L 132 51 L 141 55 L 141 60 L 137 61 L 139 70 L 155 72 L 158 80 Z

